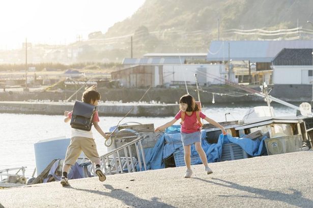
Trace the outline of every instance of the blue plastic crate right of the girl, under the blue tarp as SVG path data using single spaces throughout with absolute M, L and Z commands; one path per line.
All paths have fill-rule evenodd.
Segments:
M 221 161 L 239 160 L 248 158 L 248 154 L 237 144 L 229 143 L 223 145 Z

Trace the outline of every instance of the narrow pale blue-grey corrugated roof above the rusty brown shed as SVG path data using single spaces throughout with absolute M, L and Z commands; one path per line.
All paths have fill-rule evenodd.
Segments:
M 145 64 L 183 64 L 185 58 L 124 58 L 124 65 L 145 65 Z

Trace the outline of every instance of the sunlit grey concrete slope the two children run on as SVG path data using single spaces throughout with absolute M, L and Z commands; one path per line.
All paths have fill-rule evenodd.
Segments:
M 0 190 L 0 207 L 312 207 L 313 152 Z

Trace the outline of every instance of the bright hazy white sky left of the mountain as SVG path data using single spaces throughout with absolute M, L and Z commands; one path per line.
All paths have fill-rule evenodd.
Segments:
M 22 42 L 69 44 L 94 31 L 105 33 L 145 0 L 7 0 L 0 7 L 0 50 Z

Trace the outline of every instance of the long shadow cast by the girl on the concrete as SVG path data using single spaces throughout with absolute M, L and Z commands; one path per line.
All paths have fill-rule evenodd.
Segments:
M 215 179 L 212 178 L 212 180 L 215 181 L 208 181 L 200 178 L 192 178 L 200 181 L 204 181 L 210 184 L 214 184 L 217 186 L 223 186 L 227 188 L 233 188 L 237 189 L 240 191 L 246 191 L 249 193 L 253 193 L 255 195 L 261 195 L 261 196 L 247 196 L 247 195 L 219 195 L 222 197 L 243 197 L 243 198 L 260 198 L 260 199 L 268 199 L 268 200 L 273 200 L 273 201 L 282 201 L 294 206 L 299 206 L 299 207 L 312 207 L 313 201 L 307 198 L 302 197 L 302 193 L 298 190 L 295 189 L 289 189 L 292 191 L 292 194 L 287 194 L 287 193 L 282 193 L 279 191 L 271 191 L 267 189 L 260 189 L 260 188 L 253 188 L 249 186 L 242 186 L 230 181 L 225 181 L 222 179 Z

